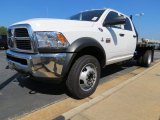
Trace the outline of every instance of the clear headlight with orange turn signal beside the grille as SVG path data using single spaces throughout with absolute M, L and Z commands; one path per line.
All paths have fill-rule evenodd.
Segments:
M 39 48 L 67 48 L 69 43 L 62 33 L 59 32 L 35 32 Z

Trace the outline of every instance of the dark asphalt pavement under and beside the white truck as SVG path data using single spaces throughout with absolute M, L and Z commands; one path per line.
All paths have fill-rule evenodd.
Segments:
M 160 53 L 156 51 L 155 59 L 159 58 Z M 41 83 L 31 78 L 24 78 L 15 71 L 5 69 L 6 66 L 5 51 L 0 51 L 1 120 L 13 118 L 69 97 L 63 85 Z M 107 66 L 102 71 L 100 84 L 137 68 L 135 62 Z

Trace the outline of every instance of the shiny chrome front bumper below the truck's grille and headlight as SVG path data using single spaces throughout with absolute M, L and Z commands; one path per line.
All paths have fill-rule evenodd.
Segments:
M 6 55 L 10 69 L 31 74 L 34 77 L 62 77 L 66 53 L 26 54 L 7 50 Z

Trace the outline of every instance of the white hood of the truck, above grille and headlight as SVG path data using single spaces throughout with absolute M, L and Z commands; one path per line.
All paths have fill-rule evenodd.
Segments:
M 63 31 L 78 27 L 92 27 L 94 22 L 90 21 L 76 21 L 76 20 L 65 20 L 65 19 L 48 19 L 48 18 L 37 18 L 30 19 L 18 24 L 29 24 L 33 31 Z

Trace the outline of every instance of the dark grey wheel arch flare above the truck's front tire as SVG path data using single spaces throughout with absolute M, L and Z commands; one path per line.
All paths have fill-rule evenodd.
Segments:
M 106 64 L 106 55 L 101 44 L 93 38 L 80 38 L 74 41 L 69 48 L 66 50 L 67 53 L 72 53 L 67 55 L 67 59 L 63 68 L 63 76 L 68 75 L 74 62 L 82 55 L 92 55 L 98 59 L 101 67 Z

